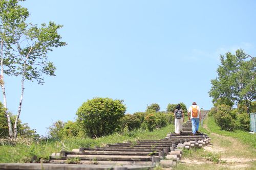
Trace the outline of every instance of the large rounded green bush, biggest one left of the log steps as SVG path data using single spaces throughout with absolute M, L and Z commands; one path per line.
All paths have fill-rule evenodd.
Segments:
M 109 98 L 88 100 L 76 112 L 78 123 L 91 137 L 112 134 L 118 130 L 126 110 L 122 102 Z

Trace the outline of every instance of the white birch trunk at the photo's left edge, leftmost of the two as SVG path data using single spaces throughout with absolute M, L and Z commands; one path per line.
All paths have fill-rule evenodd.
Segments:
M 5 116 L 7 117 L 8 129 L 9 129 L 9 136 L 12 138 L 13 131 L 12 131 L 12 123 L 10 115 L 7 111 L 7 102 L 6 102 L 6 93 L 5 93 L 5 83 L 4 83 L 4 54 L 3 54 L 3 41 L 1 41 L 1 76 L 0 76 L 0 84 L 2 87 L 3 98 L 4 98 L 4 107 L 5 107 Z

